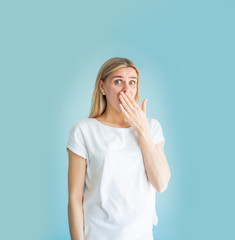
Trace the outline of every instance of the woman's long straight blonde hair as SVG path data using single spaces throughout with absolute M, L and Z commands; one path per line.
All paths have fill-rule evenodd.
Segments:
M 99 89 L 100 80 L 105 81 L 110 73 L 116 71 L 119 68 L 123 67 L 132 67 L 136 70 L 137 73 L 137 92 L 135 95 L 135 101 L 139 104 L 140 101 L 140 92 L 139 92 L 139 70 L 135 64 L 127 59 L 120 57 L 113 57 L 108 59 L 100 68 L 98 75 L 96 77 L 95 88 L 93 91 L 91 110 L 89 118 L 96 118 L 101 116 L 106 109 L 106 97 L 103 95 Z

